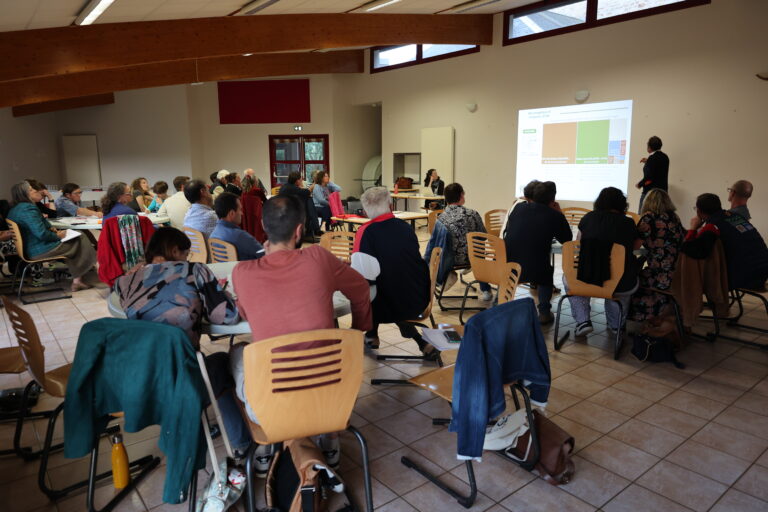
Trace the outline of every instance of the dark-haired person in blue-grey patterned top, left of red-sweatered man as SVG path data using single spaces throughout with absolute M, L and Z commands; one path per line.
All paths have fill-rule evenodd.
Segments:
M 240 317 L 234 299 L 208 266 L 187 261 L 190 246 L 182 231 L 158 229 L 147 244 L 147 264 L 119 277 L 113 289 L 128 318 L 180 327 L 199 350 L 204 316 L 213 324 L 225 325 L 237 323 Z M 212 377 L 227 377 L 228 361 L 226 353 L 208 356 L 206 366 Z M 244 452 L 250 435 L 231 392 L 234 382 L 231 377 L 213 378 L 212 385 L 232 447 Z

